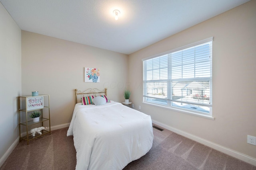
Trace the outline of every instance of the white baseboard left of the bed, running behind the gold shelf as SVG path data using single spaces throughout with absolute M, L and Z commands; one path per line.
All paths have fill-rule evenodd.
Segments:
M 62 129 L 64 127 L 69 127 L 70 123 L 65 123 L 62 125 L 56 125 L 56 126 L 51 126 L 51 131 L 57 130 L 57 129 Z M 21 134 L 26 135 L 26 132 L 23 132 Z M 5 152 L 4 156 L 2 156 L 2 158 L 0 159 L 0 167 L 4 164 L 4 161 L 6 161 L 6 159 L 8 158 L 8 156 L 10 156 L 10 154 L 12 153 L 12 151 L 15 149 L 15 147 L 18 145 L 20 140 L 20 137 L 18 137 L 14 143 L 10 146 L 10 148 Z

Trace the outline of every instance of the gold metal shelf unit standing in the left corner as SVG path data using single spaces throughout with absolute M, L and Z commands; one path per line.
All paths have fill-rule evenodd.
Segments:
M 45 98 L 44 98 L 45 97 Z M 31 100 L 36 100 L 36 99 L 42 99 L 42 103 L 40 103 L 39 105 L 32 105 L 30 104 Z M 47 100 L 48 99 L 48 100 Z M 46 104 L 48 104 L 48 106 L 44 106 L 45 102 L 44 100 L 46 100 Z M 29 108 L 30 107 L 30 108 Z M 37 110 L 41 110 L 41 116 L 40 116 L 40 119 L 39 121 L 37 122 L 33 122 L 33 120 L 28 120 L 28 112 L 31 112 L 31 111 L 37 111 Z M 48 118 L 47 117 L 47 114 L 44 115 L 43 114 L 43 110 L 48 110 Z M 24 113 L 26 113 L 26 121 L 23 121 L 21 122 L 21 118 L 22 118 L 22 115 Z M 46 116 L 46 117 L 44 117 Z M 24 118 L 24 116 L 23 116 Z M 27 145 L 29 144 L 29 141 L 32 140 L 32 139 L 36 139 L 42 135 L 46 135 L 46 134 L 51 134 L 51 124 L 50 124 L 50 95 L 48 94 L 40 94 L 38 96 L 19 96 L 18 97 L 18 121 L 19 121 L 19 134 L 20 134 L 20 141 L 22 139 L 26 140 L 27 141 Z M 48 123 L 49 124 L 49 127 L 47 127 L 47 129 L 44 129 L 42 130 L 42 134 L 38 134 L 36 133 L 35 136 L 32 136 L 32 133 L 30 133 L 30 130 L 32 129 L 32 126 L 33 125 L 40 125 L 41 126 L 44 126 L 44 123 Z M 21 127 L 26 127 L 26 135 L 22 136 L 22 133 L 21 133 Z M 30 129 L 28 129 L 30 128 Z M 34 127 L 33 127 L 34 128 Z

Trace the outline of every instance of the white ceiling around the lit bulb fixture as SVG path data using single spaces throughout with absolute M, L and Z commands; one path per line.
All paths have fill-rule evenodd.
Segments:
M 124 54 L 248 1 L 0 0 L 22 30 Z

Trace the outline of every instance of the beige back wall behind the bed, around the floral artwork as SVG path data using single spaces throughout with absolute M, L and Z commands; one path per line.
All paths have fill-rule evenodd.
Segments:
M 84 67 L 100 68 L 100 82 L 84 82 Z M 123 102 L 127 69 L 128 55 L 22 31 L 22 95 L 50 94 L 51 126 L 70 123 L 76 88 Z

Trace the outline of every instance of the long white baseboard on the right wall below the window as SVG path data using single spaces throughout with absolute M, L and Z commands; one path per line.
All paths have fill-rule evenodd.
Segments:
M 218 150 L 218 151 L 220 151 L 220 152 L 223 152 L 223 153 L 225 153 L 225 154 L 228 154 L 228 155 L 230 155 L 230 156 L 233 156 L 233 157 L 235 157 L 235 158 L 238 158 L 238 159 L 240 159 L 240 160 L 243 160 L 244 162 L 247 162 L 247 163 L 249 163 L 249 164 L 252 164 L 252 165 L 256 166 L 256 159 L 255 159 L 255 158 L 252 158 L 252 157 L 247 156 L 247 155 L 245 155 L 245 154 L 242 154 L 242 153 L 240 153 L 240 152 L 236 152 L 235 150 L 228 149 L 228 148 L 223 147 L 223 146 L 221 146 L 221 145 L 218 145 L 218 144 L 216 144 L 216 143 L 212 143 L 212 142 L 210 142 L 210 141 L 207 141 L 207 140 L 205 140 L 205 139 L 202 139 L 202 138 L 197 137 L 197 136 L 195 136 L 195 135 L 192 135 L 192 134 L 190 134 L 190 133 L 186 133 L 186 132 L 184 132 L 184 131 L 181 131 L 180 129 L 176 129 L 176 128 L 174 128 L 174 127 L 170 127 L 170 126 L 165 125 L 165 124 L 163 124 L 163 123 L 160 123 L 160 122 L 158 122 L 158 121 L 152 120 L 152 123 L 154 123 L 154 124 L 156 124 L 156 125 L 158 125 L 158 126 L 160 126 L 160 127 L 163 127 L 163 128 L 165 128 L 165 129 L 168 129 L 168 130 L 170 130 L 170 131 L 172 131 L 172 132 L 174 132 L 174 133 L 178 133 L 179 135 L 182 135 L 182 136 L 184 136 L 184 137 L 187 137 L 187 138 L 189 138 L 189 139 L 192 139 L 192 140 L 194 140 L 194 141 L 196 141 L 196 142 L 198 142 L 198 143 L 201 143 L 201 144 L 203 144 L 203 145 L 206 145 L 206 146 L 211 147 L 211 148 L 213 148 L 213 149 L 215 149 L 215 150 Z

